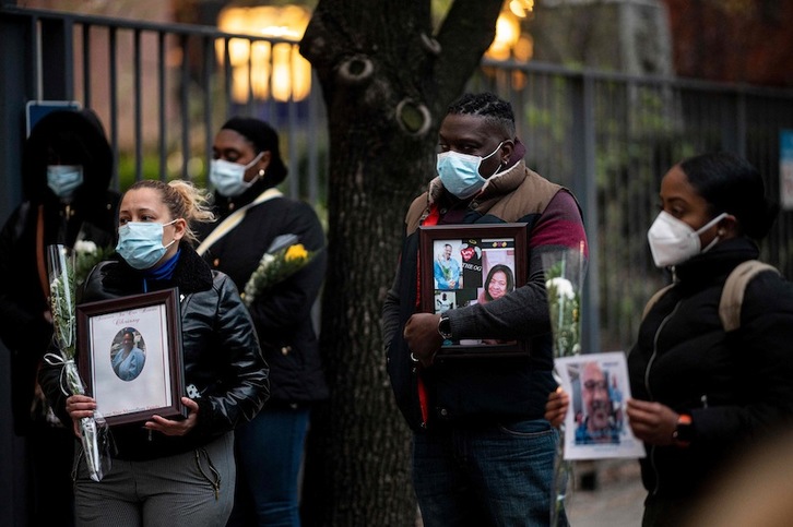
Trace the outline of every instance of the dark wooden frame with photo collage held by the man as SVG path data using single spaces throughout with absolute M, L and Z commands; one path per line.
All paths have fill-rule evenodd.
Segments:
M 497 300 L 528 280 L 526 224 L 419 227 L 421 308 L 425 313 Z M 497 336 L 446 340 L 438 358 L 528 355 Z

